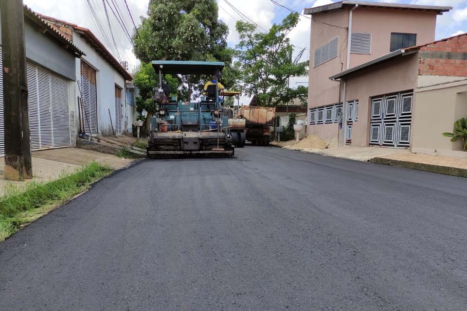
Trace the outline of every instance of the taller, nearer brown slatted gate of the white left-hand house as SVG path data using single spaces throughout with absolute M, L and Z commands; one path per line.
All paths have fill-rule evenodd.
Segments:
M 97 135 L 97 84 L 96 70 L 81 60 L 81 129 Z

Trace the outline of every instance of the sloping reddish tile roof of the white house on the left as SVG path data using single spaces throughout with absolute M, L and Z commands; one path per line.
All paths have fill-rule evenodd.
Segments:
M 67 24 L 75 30 L 78 34 L 83 36 L 86 40 L 86 42 L 94 49 L 96 52 L 98 52 L 114 69 L 116 69 L 120 74 L 122 74 L 126 80 L 133 80 L 133 77 L 131 74 L 126 71 L 126 69 L 120 64 L 120 62 L 110 53 L 107 48 L 105 47 L 104 44 L 88 29 L 85 27 L 80 27 L 76 24 L 67 22 L 65 20 L 57 19 L 54 17 L 46 16 L 46 15 L 40 15 L 40 17 L 46 19 L 46 20 L 51 20 L 51 21 L 58 21 L 64 24 Z M 43 19 L 42 19 L 43 20 Z M 45 22 L 45 21 L 44 21 Z M 47 23 L 47 22 L 45 22 Z M 51 26 L 52 27 L 52 26 Z

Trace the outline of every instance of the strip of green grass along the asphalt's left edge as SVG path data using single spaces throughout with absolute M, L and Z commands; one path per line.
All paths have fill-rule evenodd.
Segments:
M 107 166 L 91 162 L 51 182 L 30 182 L 22 188 L 10 184 L 0 197 L 0 242 L 112 172 Z

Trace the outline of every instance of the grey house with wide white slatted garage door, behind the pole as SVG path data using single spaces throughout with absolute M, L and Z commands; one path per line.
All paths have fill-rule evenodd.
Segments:
M 24 35 L 31 150 L 72 147 L 76 138 L 75 62 L 85 53 L 26 6 Z M 1 56 L 0 49 L 0 67 Z M 5 151 L 3 100 L 0 74 L 0 156 Z

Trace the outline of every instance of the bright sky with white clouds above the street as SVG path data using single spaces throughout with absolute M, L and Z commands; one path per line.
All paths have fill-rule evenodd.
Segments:
M 112 3 L 112 0 L 105 0 L 106 3 Z M 124 0 L 114 0 L 121 12 L 123 24 L 131 33 L 133 26 L 129 14 L 126 10 Z M 241 13 L 251 18 L 258 25 L 265 29 L 273 23 L 280 22 L 287 16 L 290 11 L 286 8 L 275 5 L 271 0 L 227 0 Z M 87 0 L 23 0 L 24 4 L 28 5 L 32 10 L 47 16 L 55 17 L 58 19 L 66 20 L 77 24 L 82 27 L 89 28 L 94 35 L 96 35 L 101 42 L 103 42 L 109 51 L 114 56 L 117 52 L 113 47 L 110 34 L 107 33 L 108 41 L 104 35 L 99 31 L 98 26 L 91 18 L 89 8 L 86 5 Z M 100 17 L 101 23 L 104 28 L 108 29 L 107 19 L 105 17 L 103 0 L 89 0 L 97 15 Z M 147 0 L 126 0 L 131 15 L 133 16 L 136 25 L 141 23 L 140 17 L 146 16 Z M 226 0 L 217 0 L 219 6 L 219 18 L 229 26 L 228 44 L 235 47 L 238 43 L 238 34 L 235 31 L 235 22 L 241 19 L 240 15 L 234 12 L 228 5 Z M 332 0 L 275 0 L 291 10 L 303 12 L 306 7 L 319 6 L 332 3 Z M 392 3 L 408 3 L 420 5 L 447 5 L 452 6 L 453 10 L 449 13 L 444 13 L 438 16 L 436 24 L 436 39 L 448 37 L 450 35 L 460 34 L 467 32 L 467 0 L 384 0 L 379 2 L 392 2 Z M 119 57 L 128 61 L 129 71 L 132 72 L 139 61 L 132 52 L 132 46 L 125 36 L 125 32 L 117 22 L 117 18 L 113 16 L 109 7 L 107 7 L 108 16 L 110 19 L 111 29 L 115 37 L 115 45 L 117 46 Z M 305 17 L 300 17 L 297 27 L 289 34 L 292 44 L 297 46 L 295 53 L 300 51 L 300 48 L 309 49 L 309 35 L 310 35 L 310 21 Z M 108 43 L 107 43 L 107 42 Z M 309 50 L 305 51 L 302 59 L 307 58 Z M 306 85 L 306 77 L 296 77 L 291 79 L 290 86 L 294 87 L 299 84 Z M 242 101 L 247 104 L 248 98 L 242 98 Z

